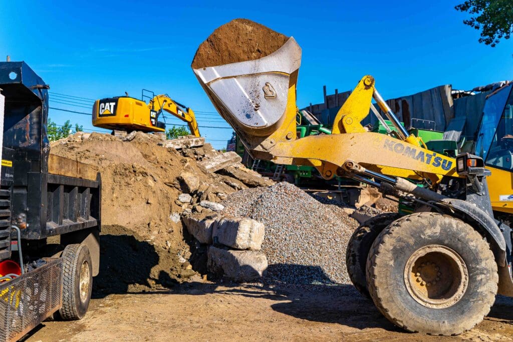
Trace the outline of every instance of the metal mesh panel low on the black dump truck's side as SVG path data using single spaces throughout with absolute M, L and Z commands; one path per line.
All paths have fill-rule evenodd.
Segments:
M 0 341 L 13 341 L 61 307 L 62 259 L 0 285 Z

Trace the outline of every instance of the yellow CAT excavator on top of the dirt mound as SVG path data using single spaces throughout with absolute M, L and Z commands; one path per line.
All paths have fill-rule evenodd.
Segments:
M 165 135 L 166 124 L 159 120 L 164 110 L 186 122 L 192 135 L 200 136 L 198 122 L 191 108 L 172 100 L 167 94 L 155 96 L 146 89 L 143 89 L 141 98 L 137 99 L 127 94 L 97 99 L 93 106 L 93 126 L 111 129 L 113 135 L 120 137 L 132 131 Z M 145 98 L 149 99 L 148 104 Z

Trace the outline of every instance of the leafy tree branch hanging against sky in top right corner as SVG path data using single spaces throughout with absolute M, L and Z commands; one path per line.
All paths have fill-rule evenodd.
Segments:
M 513 33 L 511 0 L 466 0 L 455 9 L 471 15 L 463 24 L 481 30 L 479 43 L 495 47 L 502 38 L 509 39 Z

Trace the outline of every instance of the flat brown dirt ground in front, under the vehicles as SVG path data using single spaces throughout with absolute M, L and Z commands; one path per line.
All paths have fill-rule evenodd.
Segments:
M 79 321 L 41 324 L 24 340 L 513 340 L 513 299 L 456 337 L 401 331 L 349 285 L 265 287 L 189 283 L 93 299 Z

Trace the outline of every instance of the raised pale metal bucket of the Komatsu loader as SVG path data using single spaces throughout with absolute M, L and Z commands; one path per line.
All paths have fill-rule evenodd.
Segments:
M 192 67 L 200 84 L 221 116 L 239 134 L 268 136 L 280 126 L 287 106 L 294 106 L 295 110 L 301 48 L 294 38 L 274 33 L 285 37 L 285 43 L 258 59 L 208 67 L 198 67 L 196 57 L 194 59 Z M 230 49 L 240 53 L 237 44 L 228 44 L 227 51 L 222 53 L 235 54 Z M 289 92 L 293 92 L 293 96 L 289 96 Z

